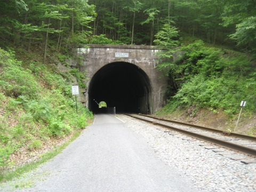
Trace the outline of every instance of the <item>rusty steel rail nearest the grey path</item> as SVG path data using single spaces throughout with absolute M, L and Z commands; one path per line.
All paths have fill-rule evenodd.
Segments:
M 165 124 L 158 123 L 158 122 L 155 122 L 155 121 L 150 121 L 148 119 L 143 119 L 143 118 L 140 118 L 140 117 L 137 117 L 137 116 L 133 116 L 131 114 L 124 114 L 124 115 L 128 115 L 130 117 L 137 118 L 137 119 L 140 119 L 142 121 L 153 123 L 154 125 L 160 125 L 160 126 L 168 128 L 168 129 L 172 129 L 174 131 L 189 135 L 190 137 L 194 137 L 194 138 L 197 138 L 197 139 L 200 139 L 200 140 L 203 140 L 203 141 L 211 142 L 215 145 L 225 147 L 225 148 L 228 148 L 228 149 L 231 149 L 231 150 L 239 151 L 240 153 L 256 157 L 256 149 L 253 149 L 253 148 L 237 145 L 235 143 L 231 143 L 231 142 L 228 142 L 228 141 L 223 141 L 223 140 L 220 140 L 220 139 L 211 138 L 211 137 L 208 137 L 206 135 L 198 134 L 198 133 L 195 133 L 195 132 L 190 132 L 190 131 L 178 129 L 177 127 L 173 127 L 173 126 L 170 126 L 170 125 L 165 125 Z

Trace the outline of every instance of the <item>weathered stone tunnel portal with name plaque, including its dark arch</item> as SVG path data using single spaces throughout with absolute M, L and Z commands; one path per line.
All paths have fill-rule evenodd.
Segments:
M 161 72 L 155 68 L 158 64 L 156 52 L 159 50 L 154 46 L 89 45 L 88 48 L 77 48 L 74 51 L 76 60 L 79 61 L 79 70 L 87 71 L 88 77 L 85 82 L 87 89 L 82 90 L 78 98 L 80 100 L 85 99 L 86 107 L 89 107 L 90 110 L 93 110 L 97 99 L 98 102 L 106 100 L 107 105 L 110 107 L 115 107 L 115 104 L 120 105 L 120 103 L 115 103 L 115 101 L 119 101 L 118 98 L 111 95 L 111 99 L 107 95 L 110 94 L 108 93 L 110 89 L 114 90 L 113 92 L 118 92 L 117 90 L 120 86 L 124 86 L 123 91 L 127 92 L 124 94 L 117 93 L 119 97 L 125 98 L 125 95 L 133 92 L 132 87 L 127 85 L 127 82 L 123 85 L 118 84 L 120 81 L 125 82 L 125 79 L 129 79 L 131 82 L 133 80 L 137 81 L 138 84 L 140 84 L 140 81 L 144 82 L 141 83 L 140 87 L 136 88 L 138 94 L 131 93 L 130 95 L 135 99 L 129 101 L 135 103 L 134 106 L 138 108 L 137 111 L 133 109 L 131 112 L 151 114 L 165 104 L 164 92 L 167 86 L 167 77 L 161 78 Z M 113 71 L 113 73 L 111 74 L 110 71 Z M 126 72 L 130 74 L 126 76 Z M 116 79 L 112 79 L 110 75 L 107 76 L 106 74 L 116 76 Z M 121 75 L 118 76 L 118 74 Z M 124 79 L 121 80 L 120 78 L 122 77 Z M 99 79 L 102 79 L 102 81 L 99 81 Z M 109 86 L 106 83 L 108 79 L 111 79 L 111 84 L 116 84 L 116 87 L 105 89 L 106 86 Z M 137 83 L 131 86 L 137 87 Z M 104 94 L 107 94 L 106 97 Z M 95 99 L 96 101 L 94 102 Z M 127 103 L 127 101 L 125 102 Z M 133 103 L 130 103 L 127 107 L 133 106 Z

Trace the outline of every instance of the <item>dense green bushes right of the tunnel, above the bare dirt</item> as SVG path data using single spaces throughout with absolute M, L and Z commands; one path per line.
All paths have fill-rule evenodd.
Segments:
M 207 46 L 202 41 L 181 45 L 178 51 L 182 53 L 179 60 L 158 66 L 170 77 L 166 91 L 169 103 L 159 115 L 193 106 L 194 115 L 206 108 L 236 118 L 242 100 L 247 101 L 244 111 L 255 114 L 256 64 L 252 55 Z

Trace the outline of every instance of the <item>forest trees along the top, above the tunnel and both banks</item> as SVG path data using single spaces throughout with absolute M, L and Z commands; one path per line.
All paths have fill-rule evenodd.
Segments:
M 57 50 L 97 43 L 93 37 L 100 35 L 108 43 L 154 45 L 158 31 L 171 23 L 185 36 L 251 51 L 255 7 L 253 0 L 3 0 L 1 46 L 8 40 L 29 49 L 47 35 Z

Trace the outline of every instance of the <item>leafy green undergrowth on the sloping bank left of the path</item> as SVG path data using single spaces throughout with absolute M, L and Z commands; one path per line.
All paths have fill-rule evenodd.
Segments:
M 83 129 L 92 118 L 81 103 L 76 114 L 71 74 L 33 59 L 22 62 L 13 51 L 0 49 L 0 173 L 15 163 L 10 155 L 21 148 L 40 149 L 52 138 Z

